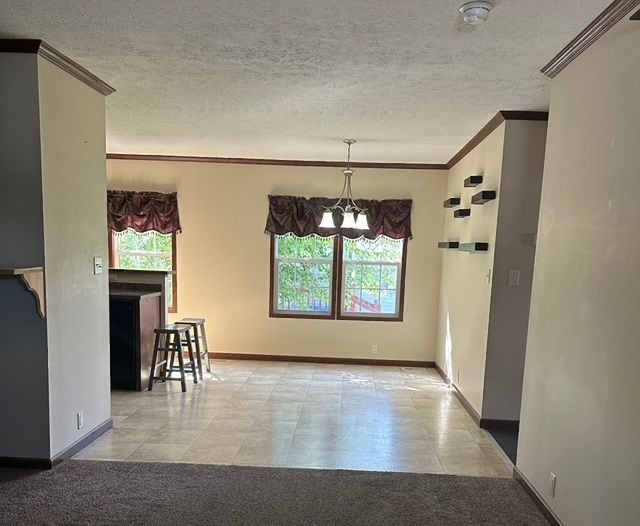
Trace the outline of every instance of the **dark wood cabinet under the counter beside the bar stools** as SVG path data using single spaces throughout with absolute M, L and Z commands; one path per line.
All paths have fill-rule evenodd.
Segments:
M 112 389 L 147 389 L 161 309 L 159 292 L 109 292 Z

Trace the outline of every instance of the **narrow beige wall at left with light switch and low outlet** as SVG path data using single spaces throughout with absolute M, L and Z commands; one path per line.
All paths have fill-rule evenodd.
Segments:
M 51 454 L 111 416 L 104 96 L 39 58 Z M 78 430 L 76 412 L 84 412 Z

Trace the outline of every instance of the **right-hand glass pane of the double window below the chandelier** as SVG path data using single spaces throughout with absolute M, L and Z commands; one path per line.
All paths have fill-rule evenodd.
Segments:
M 341 316 L 400 316 L 403 252 L 402 239 L 342 240 Z

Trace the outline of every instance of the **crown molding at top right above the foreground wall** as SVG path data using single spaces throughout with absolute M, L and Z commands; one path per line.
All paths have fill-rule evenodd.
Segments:
M 640 6 L 640 0 L 615 0 L 540 71 L 547 77 L 554 78 L 638 6 Z

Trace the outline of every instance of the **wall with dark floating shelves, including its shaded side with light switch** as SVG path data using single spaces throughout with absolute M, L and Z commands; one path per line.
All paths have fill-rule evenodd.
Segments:
M 486 253 L 443 250 L 437 363 L 485 419 L 518 420 L 547 123 L 506 121 L 449 171 L 445 240 L 489 243 Z M 483 175 L 481 185 L 464 179 Z M 480 190 L 497 198 L 472 205 Z M 520 285 L 509 286 L 510 270 Z

